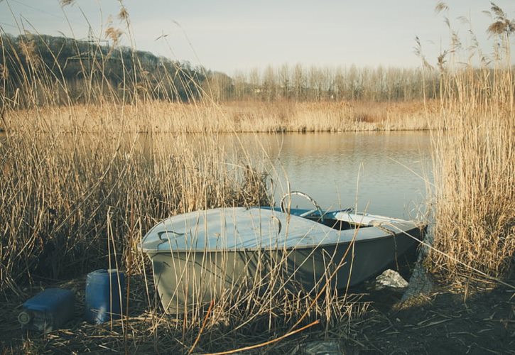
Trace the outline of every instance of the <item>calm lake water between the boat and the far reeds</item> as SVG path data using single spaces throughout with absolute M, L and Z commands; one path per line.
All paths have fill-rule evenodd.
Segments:
M 415 217 L 430 177 L 430 136 L 425 132 L 286 133 L 226 136 L 227 146 L 242 146 L 260 156 L 269 151 L 275 197 L 287 190 L 311 195 L 323 207 L 354 206 L 374 214 Z M 261 153 L 262 155 L 262 153 Z

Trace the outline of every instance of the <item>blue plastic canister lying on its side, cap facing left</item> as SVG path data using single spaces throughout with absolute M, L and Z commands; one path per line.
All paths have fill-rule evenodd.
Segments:
M 23 329 L 52 332 L 73 318 L 74 309 L 72 291 L 48 288 L 23 303 L 18 322 Z

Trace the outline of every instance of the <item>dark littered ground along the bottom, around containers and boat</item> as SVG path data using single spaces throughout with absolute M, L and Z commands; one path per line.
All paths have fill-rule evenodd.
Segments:
M 87 324 L 82 320 L 82 295 L 85 287 L 85 277 L 82 277 L 59 283 L 38 283 L 39 285 L 26 289 L 28 295 L 37 293 L 43 285 L 68 288 L 75 292 L 75 318 L 63 329 L 47 336 L 20 329 L 17 322 L 18 305 L 23 300 L 11 299 L 6 302 L 9 307 L 4 307 L 1 312 L 0 349 L 4 354 L 15 354 L 21 349 L 26 349 L 28 342 L 34 351 L 38 349 L 47 352 L 80 352 L 84 349 L 105 351 L 107 344 L 110 344 L 108 347 L 111 351 L 188 351 L 191 346 L 188 342 L 181 345 L 179 342 L 171 344 L 170 339 L 166 342 L 163 339 L 156 341 L 148 326 L 156 322 L 163 334 L 163 321 L 169 322 L 170 316 L 164 316 L 161 325 L 158 325 L 158 319 L 163 317 L 162 311 L 152 308 L 144 310 L 141 307 L 137 291 L 143 290 L 143 283 L 139 277 L 131 278 L 131 287 L 136 289 L 136 292 L 131 292 L 129 305 L 133 306 L 129 310 L 129 318 L 124 320 L 126 324 L 131 324 L 133 329 L 129 338 L 124 338 L 121 320 L 99 325 Z M 261 347 L 261 351 L 266 351 L 267 354 L 283 354 L 293 349 L 305 349 L 307 344 L 313 342 L 338 344 L 344 354 L 390 354 L 393 351 L 402 354 L 463 354 L 467 351 L 472 351 L 472 354 L 482 354 L 484 351 L 506 354 L 513 351 L 513 290 L 493 283 L 467 285 L 467 280 L 464 280 L 464 285 L 457 288 L 437 283 L 430 293 L 402 301 L 406 289 L 375 290 L 372 287 L 373 283 L 373 280 L 368 281 L 362 293 L 349 295 L 349 300 L 357 299 L 354 303 L 354 312 L 357 312 L 354 317 L 344 322 L 332 323 L 330 326 L 320 324 L 311 327 L 276 344 Z M 360 311 L 359 307 L 366 309 Z M 201 338 L 195 350 L 230 351 L 242 346 L 260 344 L 288 332 L 287 328 L 275 329 L 273 334 L 276 335 L 273 335 L 265 328 L 259 330 L 259 327 L 264 327 L 261 322 L 254 323 L 254 326 L 258 327 L 254 329 L 254 334 L 244 334 L 240 330 L 229 338 L 225 336 L 223 340 L 215 343 L 209 339 L 210 337 Z M 234 324 L 234 327 L 237 325 Z M 205 330 L 206 334 L 224 332 L 223 324 L 211 324 L 210 327 L 211 329 Z M 221 329 L 217 331 L 217 327 Z M 85 337 L 86 334 L 96 336 L 89 338 Z M 180 336 L 179 334 L 180 329 L 176 336 Z

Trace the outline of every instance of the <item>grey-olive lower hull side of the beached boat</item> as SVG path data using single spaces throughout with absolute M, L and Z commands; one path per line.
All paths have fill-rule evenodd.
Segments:
M 148 252 L 166 312 L 180 314 L 215 302 L 235 302 L 241 293 L 313 293 L 329 282 L 345 290 L 384 271 L 418 245 L 413 227 L 374 239 L 283 249 Z

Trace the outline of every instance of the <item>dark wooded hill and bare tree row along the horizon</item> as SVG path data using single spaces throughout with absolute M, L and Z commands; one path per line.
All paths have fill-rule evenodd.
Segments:
M 217 102 L 409 101 L 435 97 L 439 85 L 438 74 L 423 68 L 284 64 L 229 77 L 107 41 L 6 33 L 0 40 L 1 97 L 21 106 L 31 104 L 23 97 L 44 97 L 54 104 L 106 97 L 127 102 L 206 97 Z M 50 95 L 43 94 L 45 89 Z

